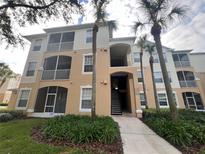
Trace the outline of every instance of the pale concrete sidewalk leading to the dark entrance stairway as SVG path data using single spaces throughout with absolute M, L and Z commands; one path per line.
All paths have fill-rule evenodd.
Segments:
M 124 154 L 180 154 L 135 117 L 113 116 L 120 126 Z

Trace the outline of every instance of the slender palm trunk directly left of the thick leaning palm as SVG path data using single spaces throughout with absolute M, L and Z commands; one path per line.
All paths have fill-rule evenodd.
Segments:
M 157 97 L 157 88 L 156 88 L 156 84 L 155 84 L 155 80 L 154 80 L 153 56 L 150 56 L 149 63 L 150 63 L 151 74 L 152 74 L 152 84 L 153 84 L 156 110 L 157 110 L 157 112 L 160 112 L 159 102 L 158 102 L 158 97 Z

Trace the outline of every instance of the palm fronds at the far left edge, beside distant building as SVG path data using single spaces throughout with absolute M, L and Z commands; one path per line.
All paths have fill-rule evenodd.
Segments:
M 5 63 L 0 63 L 0 88 L 3 86 L 3 84 L 6 82 L 7 78 L 12 78 L 14 77 L 13 71 L 9 68 L 8 65 Z

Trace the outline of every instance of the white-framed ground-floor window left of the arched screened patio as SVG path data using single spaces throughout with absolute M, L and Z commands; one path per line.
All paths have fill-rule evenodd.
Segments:
M 28 98 L 29 98 L 29 89 L 21 89 L 19 93 L 18 108 L 26 108 Z

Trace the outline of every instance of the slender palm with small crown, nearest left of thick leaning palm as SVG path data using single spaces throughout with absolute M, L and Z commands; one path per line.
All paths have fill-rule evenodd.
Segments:
M 156 110 L 157 110 L 157 112 L 159 112 L 160 108 L 159 108 L 159 102 L 158 102 L 158 97 L 157 97 L 157 88 L 156 88 L 156 84 L 155 84 L 155 80 L 154 80 L 154 68 L 153 68 L 154 58 L 152 56 L 152 53 L 155 51 L 155 45 L 154 44 L 146 44 L 146 51 L 148 51 L 149 55 L 150 55 L 149 64 L 150 64 L 150 68 L 151 68 L 154 99 L 155 99 Z

